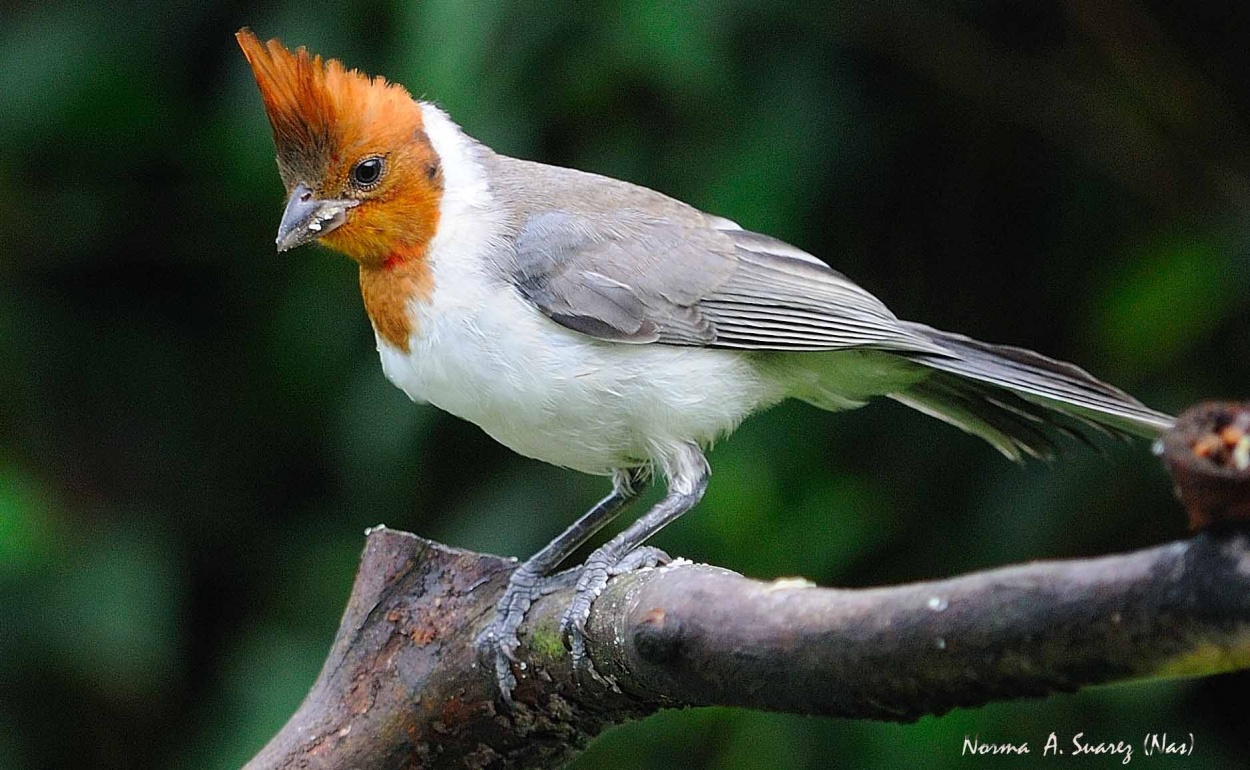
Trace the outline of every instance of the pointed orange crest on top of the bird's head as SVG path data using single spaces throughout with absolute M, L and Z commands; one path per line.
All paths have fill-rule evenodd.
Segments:
M 401 144 L 421 129 L 420 110 L 401 85 L 302 46 L 291 52 L 278 40 L 261 42 L 246 28 L 235 38 L 260 86 L 285 170 L 324 172 L 338 156 Z

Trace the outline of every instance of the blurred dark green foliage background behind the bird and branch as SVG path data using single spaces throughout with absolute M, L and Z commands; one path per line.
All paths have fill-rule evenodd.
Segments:
M 242 25 L 386 74 L 500 151 L 788 239 L 900 316 L 1165 410 L 1246 396 L 1244 4 L 9 0 L 0 770 L 236 768 L 311 684 L 366 526 L 524 556 L 605 491 L 409 404 L 354 266 L 274 254 Z M 875 585 L 1184 534 L 1145 442 L 1019 468 L 892 404 L 785 405 L 711 464 L 656 544 L 759 578 Z M 960 758 L 965 735 L 1050 731 L 1194 732 L 1178 766 L 1244 766 L 1248 685 L 908 726 L 668 712 L 575 768 L 1051 766 Z

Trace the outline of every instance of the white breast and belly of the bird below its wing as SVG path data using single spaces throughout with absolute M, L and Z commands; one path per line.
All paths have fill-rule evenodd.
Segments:
M 662 469 L 678 444 L 708 444 L 784 395 L 744 354 L 602 342 L 505 288 L 474 304 L 436 289 L 415 311 L 410 352 L 379 340 L 395 385 L 519 454 L 589 474 Z

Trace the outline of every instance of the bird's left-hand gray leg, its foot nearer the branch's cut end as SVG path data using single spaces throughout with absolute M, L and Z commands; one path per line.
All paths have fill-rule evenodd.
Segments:
M 560 536 L 512 571 L 504 595 L 495 605 L 495 619 L 478 638 L 479 649 L 494 652 L 495 679 L 499 681 L 499 689 L 505 701 L 511 702 L 512 688 L 516 686 L 511 665 L 516 662 L 516 649 L 521 644 L 516 638 L 516 630 L 525 620 L 525 612 L 529 611 L 530 605 L 542 595 L 542 579 L 638 498 L 641 475 L 639 470 L 622 470 L 612 474 L 610 495 L 600 500 L 595 508 L 572 522 Z

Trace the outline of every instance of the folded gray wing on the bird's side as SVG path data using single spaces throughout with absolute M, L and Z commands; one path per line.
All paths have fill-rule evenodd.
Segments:
M 846 276 L 728 220 L 530 216 L 514 280 L 551 320 L 620 342 L 942 354 Z

